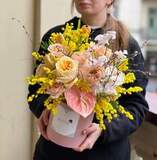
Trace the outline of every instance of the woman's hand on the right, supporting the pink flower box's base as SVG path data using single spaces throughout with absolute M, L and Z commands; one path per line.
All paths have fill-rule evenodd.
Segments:
M 89 128 L 83 131 L 83 134 L 87 135 L 87 138 L 83 141 L 83 143 L 78 148 L 73 148 L 75 151 L 82 152 L 85 149 L 92 149 L 95 142 L 101 135 L 102 129 L 98 124 L 92 123 Z

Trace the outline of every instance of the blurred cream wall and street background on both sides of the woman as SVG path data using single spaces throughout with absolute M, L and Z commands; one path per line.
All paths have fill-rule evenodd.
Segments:
M 0 160 L 31 160 L 38 132 L 26 102 L 31 52 L 72 16 L 71 0 L 0 0 Z M 157 0 L 117 0 L 114 15 L 138 40 L 150 72 L 150 112 L 132 135 L 132 160 L 157 160 Z

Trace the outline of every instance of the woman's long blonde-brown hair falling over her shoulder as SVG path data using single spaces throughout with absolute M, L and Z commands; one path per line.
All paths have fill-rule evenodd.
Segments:
M 108 6 L 108 9 L 112 7 L 115 0 Z M 71 12 L 74 11 L 75 2 L 72 0 L 71 3 Z M 129 41 L 129 32 L 127 27 L 119 20 L 114 18 L 111 13 L 107 13 L 107 20 L 104 26 L 104 32 L 108 30 L 116 31 L 116 40 L 114 40 L 111 44 L 111 48 L 116 50 L 125 50 L 128 48 L 128 41 Z

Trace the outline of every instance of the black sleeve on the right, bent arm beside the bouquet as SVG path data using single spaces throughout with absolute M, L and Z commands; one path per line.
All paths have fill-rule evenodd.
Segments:
M 143 91 L 140 93 L 133 93 L 132 95 L 124 95 L 119 99 L 119 103 L 125 107 L 126 110 L 132 113 L 134 120 L 129 120 L 124 115 L 120 115 L 111 123 L 104 120 L 107 129 L 103 131 L 100 136 L 103 143 L 110 143 L 129 136 L 141 125 L 145 114 L 148 111 L 148 104 L 145 100 L 145 89 L 148 79 L 143 73 L 144 59 L 137 41 L 131 38 L 129 41 L 128 54 L 132 57 L 136 52 L 137 56 L 130 60 L 130 69 L 136 70 L 136 81 L 131 85 L 141 86 Z M 130 87 L 131 85 L 128 85 L 127 87 Z

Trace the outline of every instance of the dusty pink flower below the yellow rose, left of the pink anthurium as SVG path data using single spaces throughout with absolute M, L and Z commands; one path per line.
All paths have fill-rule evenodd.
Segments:
M 53 99 L 58 98 L 65 91 L 63 84 L 55 83 L 52 87 L 47 88 L 47 93 L 51 95 Z

